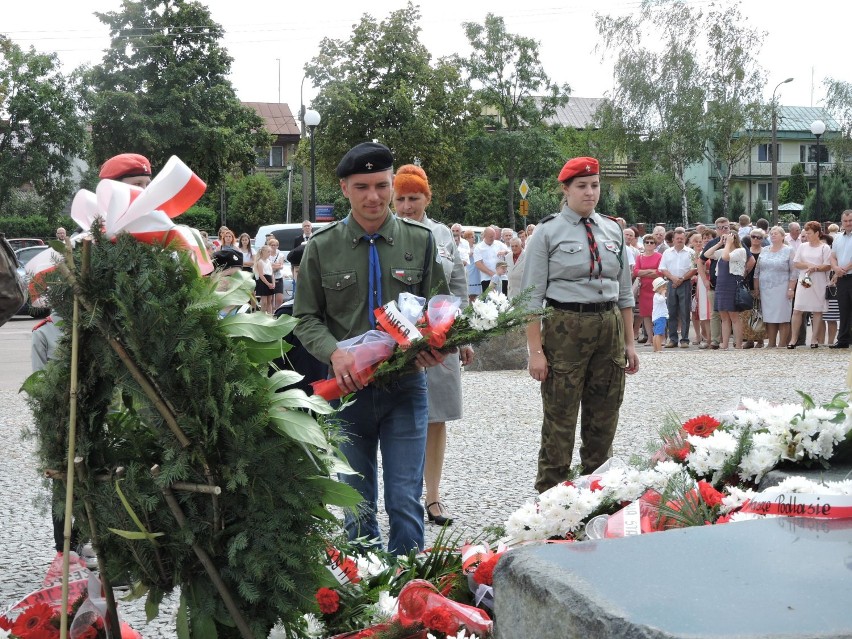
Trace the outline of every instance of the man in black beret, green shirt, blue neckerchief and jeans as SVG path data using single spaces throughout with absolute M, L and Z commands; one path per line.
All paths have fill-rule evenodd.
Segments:
M 381 544 L 376 519 L 381 446 L 388 550 L 406 554 L 423 548 L 420 498 L 428 418 L 423 369 L 443 356 L 422 352 L 416 368 L 377 388 L 364 385 L 353 355 L 337 343 L 375 328 L 373 311 L 402 292 L 428 298 L 449 289 L 431 231 L 397 218 L 388 208 L 393 194 L 390 150 L 375 142 L 355 146 L 337 166 L 337 177 L 351 212 L 316 231 L 305 245 L 293 310 L 299 319 L 295 333 L 314 357 L 330 364 L 337 384 L 355 393 L 356 401 L 339 414 L 347 437 L 341 449 L 358 473 L 340 479 L 364 498 L 358 515 L 346 516 L 349 538 Z

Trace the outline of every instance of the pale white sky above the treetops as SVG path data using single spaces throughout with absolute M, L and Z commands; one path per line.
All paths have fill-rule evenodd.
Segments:
M 709 0 L 687 0 L 707 8 Z M 310 107 L 316 93 L 304 80 L 304 65 L 318 53 L 324 37 L 347 39 L 364 13 L 381 20 L 405 0 L 207 0 L 213 19 L 223 26 L 223 45 L 233 58 L 231 82 L 240 100 L 286 102 L 293 113 L 302 99 Z M 782 80 L 780 104 L 820 106 L 823 80 L 852 81 L 848 32 L 839 15 L 841 0 L 743 0 L 750 26 L 766 32 L 759 61 L 767 71 L 765 97 Z M 488 12 L 502 16 L 512 33 L 540 43 L 545 72 L 568 83 L 578 97 L 601 97 L 613 85 L 612 62 L 595 52 L 599 36 L 594 12 L 635 12 L 638 0 L 427 0 L 420 3 L 421 42 L 433 57 L 469 52 L 462 23 L 483 22 Z M 19 45 L 56 52 L 63 70 L 97 64 L 109 45 L 106 26 L 94 12 L 118 11 L 121 0 L 24 0 L 4 3 L 0 32 Z

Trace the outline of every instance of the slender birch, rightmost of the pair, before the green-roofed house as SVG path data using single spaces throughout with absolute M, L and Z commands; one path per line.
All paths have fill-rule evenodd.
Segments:
M 706 21 L 704 153 L 717 168 L 722 187 L 721 215 L 727 217 L 734 166 L 748 157 L 757 137 L 755 131 L 769 127 L 771 109 L 761 100 L 765 73 L 757 63 L 763 34 L 745 26 L 738 4 L 712 8 Z

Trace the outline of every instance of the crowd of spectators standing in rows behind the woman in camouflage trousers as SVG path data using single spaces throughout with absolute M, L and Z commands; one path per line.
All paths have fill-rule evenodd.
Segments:
M 662 277 L 663 348 L 848 348 L 850 235 L 852 210 L 843 212 L 840 226 L 826 228 L 791 222 L 785 231 L 765 219 L 752 225 L 748 216 L 738 223 L 720 217 L 712 228 L 657 226 L 641 245 L 638 229 L 625 226 L 637 302 L 634 338 L 653 341 L 653 322 L 663 316 L 654 309 L 655 280 Z M 749 292 L 749 308 L 737 299 L 739 289 Z

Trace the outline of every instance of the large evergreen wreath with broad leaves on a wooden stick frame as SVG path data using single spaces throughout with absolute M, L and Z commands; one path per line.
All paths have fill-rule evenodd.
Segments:
M 73 264 L 48 281 L 51 304 L 67 319 L 57 359 L 26 385 L 43 468 L 64 468 L 67 455 L 76 283 L 83 301 L 76 454 L 86 479 L 75 489 L 74 512 L 87 535 L 83 505 L 93 507 L 107 574 L 129 575 L 137 594 L 147 593 L 149 617 L 179 586 L 179 636 L 242 636 L 194 545 L 210 556 L 253 636 L 266 637 L 278 621 L 296 630 L 330 578 L 324 556 L 337 523 L 325 505 L 349 506 L 355 497 L 329 478 L 334 433 L 295 410 L 328 406 L 301 391 L 276 393 L 291 374 L 266 375 L 292 320 L 222 320 L 220 308 L 245 296 L 250 280 L 238 274 L 223 295 L 217 278 L 201 278 L 180 251 L 127 234 L 111 243 L 93 232 L 86 273 L 76 250 Z M 183 444 L 110 339 L 158 389 Z M 221 494 L 169 490 L 176 482 Z M 61 508 L 61 496 L 55 502 Z

